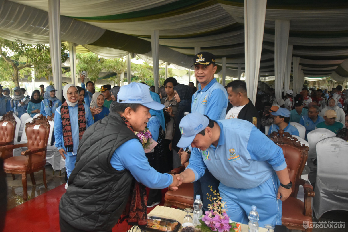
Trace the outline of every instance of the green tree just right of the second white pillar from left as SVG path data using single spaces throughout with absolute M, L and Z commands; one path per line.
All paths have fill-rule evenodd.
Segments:
M 77 74 L 81 71 L 86 71 L 86 76 L 95 84 L 99 77 L 99 73 L 103 69 L 105 59 L 103 57 L 98 57 L 98 55 L 93 52 L 76 54 L 76 58 L 78 59 L 76 64 Z

